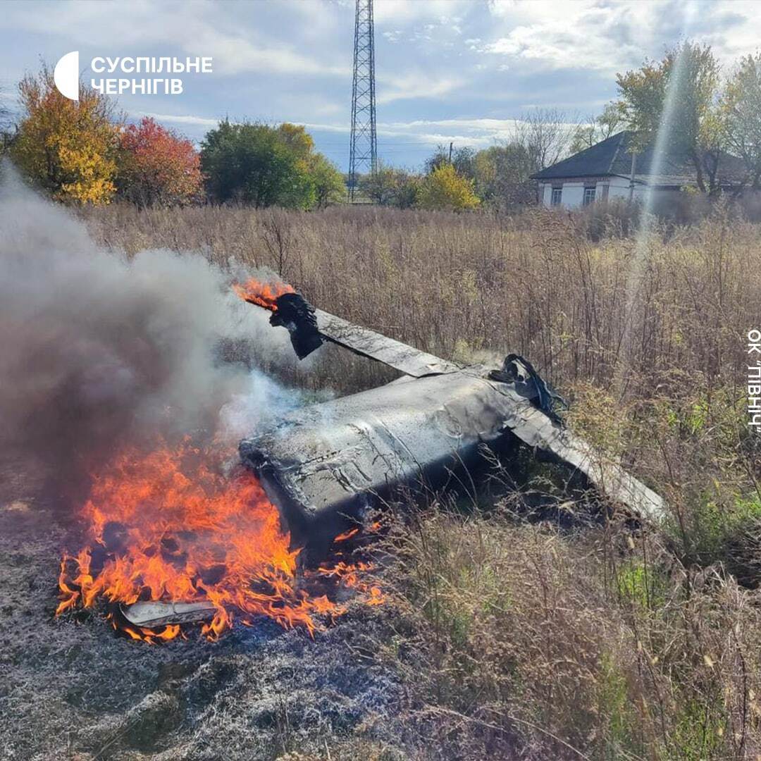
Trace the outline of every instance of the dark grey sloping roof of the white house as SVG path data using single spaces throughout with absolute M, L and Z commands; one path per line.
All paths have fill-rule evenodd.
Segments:
M 552 164 L 551 167 L 532 174 L 533 180 L 561 180 L 572 177 L 631 177 L 632 153 L 630 148 L 635 133 L 631 130 L 618 132 L 610 138 L 585 148 L 584 151 Z M 635 181 L 654 185 L 695 184 L 695 168 L 689 158 L 666 155 L 657 167 L 658 175 L 651 173 L 654 162 L 653 145 L 637 153 Z M 719 175 L 723 180 L 738 180 L 743 176 L 743 164 L 739 158 L 722 151 L 719 159 Z

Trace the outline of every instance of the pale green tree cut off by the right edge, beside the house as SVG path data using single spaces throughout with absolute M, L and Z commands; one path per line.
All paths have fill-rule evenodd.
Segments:
M 740 59 L 721 95 L 724 135 L 754 190 L 761 188 L 761 53 Z

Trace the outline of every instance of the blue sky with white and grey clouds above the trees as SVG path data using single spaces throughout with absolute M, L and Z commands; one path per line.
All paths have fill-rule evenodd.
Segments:
M 354 0 L 5 0 L 0 97 L 40 59 L 212 56 L 179 96 L 130 95 L 199 142 L 218 119 L 302 123 L 348 163 Z M 378 152 L 417 167 L 438 143 L 504 139 L 526 110 L 587 116 L 616 95 L 616 72 L 680 38 L 731 67 L 761 45 L 761 0 L 375 0 Z M 159 75 L 161 76 L 161 75 Z

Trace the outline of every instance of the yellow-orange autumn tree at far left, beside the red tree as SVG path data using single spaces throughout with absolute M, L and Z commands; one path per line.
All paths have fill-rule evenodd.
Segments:
M 79 100 L 69 100 L 46 67 L 18 89 L 26 112 L 11 148 L 18 167 L 56 200 L 108 203 L 119 139 L 112 103 L 84 85 Z

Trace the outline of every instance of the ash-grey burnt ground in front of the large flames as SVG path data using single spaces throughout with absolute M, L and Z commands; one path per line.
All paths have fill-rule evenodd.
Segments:
M 0 468 L 0 757 L 335 759 L 363 743 L 409 757 L 403 684 L 372 656 L 383 607 L 356 606 L 314 640 L 263 620 L 216 643 L 191 630 L 146 645 L 95 613 L 56 619 L 72 522 L 29 463 Z

